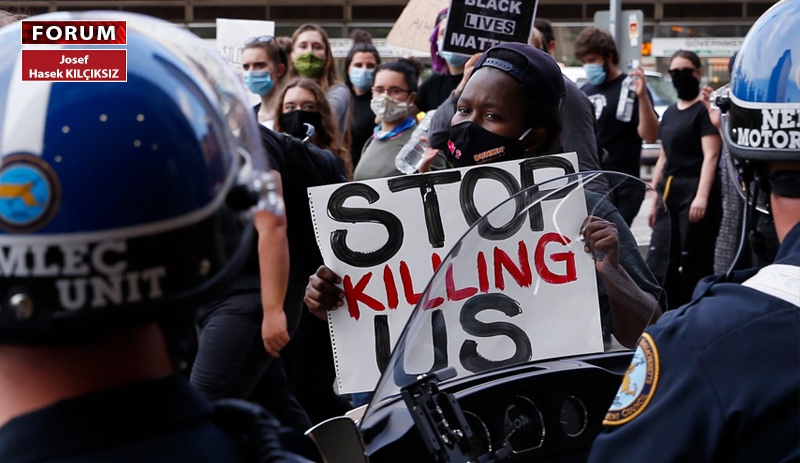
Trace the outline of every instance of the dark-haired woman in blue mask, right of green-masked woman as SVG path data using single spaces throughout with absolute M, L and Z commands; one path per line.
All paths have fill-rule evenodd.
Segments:
M 347 69 L 345 83 L 353 95 L 353 117 L 350 118 L 350 134 L 352 142 L 350 152 L 353 165 L 358 164 L 364 143 L 372 136 L 375 128 L 375 114 L 369 107 L 372 100 L 372 84 L 375 81 L 375 70 L 381 64 L 378 50 L 371 43 L 356 42 L 350 48 L 344 67 Z

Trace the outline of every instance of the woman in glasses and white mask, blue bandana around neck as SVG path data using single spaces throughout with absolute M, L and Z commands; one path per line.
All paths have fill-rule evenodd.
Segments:
M 379 123 L 361 151 L 353 173 L 355 180 L 402 174 L 394 158 L 417 125 L 409 109 L 417 96 L 417 79 L 416 68 L 405 59 L 382 64 L 375 71 L 370 108 Z M 434 161 L 434 169 L 444 166 L 443 158 Z

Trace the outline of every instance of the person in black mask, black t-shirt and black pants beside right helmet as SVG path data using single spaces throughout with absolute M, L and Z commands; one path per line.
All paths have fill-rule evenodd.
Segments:
M 716 178 L 721 139 L 701 101 L 697 55 L 675 52 L 669 74 L 679 100 L 661 119 L 662 148 L 652 180 L 667 210 L 653 204 L 648 259 L 660 259 L 662 249 L 669 247 L 664 287 L 670 306 L 678 307 L 689 301 L 701 278 L 714 273 L 714 242 L 722 217 Z

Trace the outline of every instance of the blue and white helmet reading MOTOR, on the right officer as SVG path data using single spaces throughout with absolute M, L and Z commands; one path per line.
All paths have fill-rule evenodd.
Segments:
M 733 64 L 725 139 L 746 161 L 800 160 L 800 1 L 767 10 Z

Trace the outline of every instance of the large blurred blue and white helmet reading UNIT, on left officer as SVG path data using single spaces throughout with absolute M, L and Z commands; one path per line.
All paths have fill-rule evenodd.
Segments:
M 127 50 L 127 80 L 22 80 L 22 49 L 43 47 L 20 45 L 21 23 L 0 29 L 0 342 L 85 339 L 198 304 L 241 268 L 252 213 L 281 213 L 239 79 L 154 18 L 30 19 L 126 21 L 125 45 L 49 48 Z

